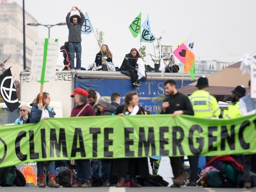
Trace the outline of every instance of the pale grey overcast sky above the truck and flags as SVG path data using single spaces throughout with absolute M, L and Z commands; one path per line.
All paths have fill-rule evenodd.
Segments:
M 15 2 L 22 6 L 22 0 Z M 78 6 L 83 13 L 87 11 L 94 30 L 105 32 L 104 40 L 116 66 L 122 64 L 131 48 L 140 48 L 140 38 L 133 38 L 128 29 L 140 12 L 142 22 L 149 15 L 156 37 L 164 31 L 161 44 L 172 45 L 173 50 L 190 31 L 194 32 L 196 60 L 236 62 L 244 53 L 256 54 L 255 0 L 25 0 L 26 11 L 42 24 L 65 22 L 72 6 Z M 48 36 L 47 28 L 39 26 L 38 30 L 40 38 Z M 68 40 L 67 27 L 54 26 L 51 37 L 60 38 L 63 44 Z M 147 54 L 154 54 L 152 44 L 142 45 Z M 83 34 L 82 66 L 87 69 L 98 50 L 94 34 Z M 153 64 L 149 56 L 146 61 Z

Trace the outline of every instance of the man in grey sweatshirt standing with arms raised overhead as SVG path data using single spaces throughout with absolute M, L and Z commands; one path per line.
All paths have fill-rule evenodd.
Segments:
M 79 15 L 72 15 L 70 14 L 73 10 L 78 10 L 80 13 Z M 74 69 L 74 58 L 76 53 L 76 70 L 81 69 L 81 54 L 82 54 L 82 47 L 81 47 L 81 29 L 84 23 L 84 14 L 82 11 L 77 7 L 73 6 L 71 10 L 68 12 L 66 16 L 66 23 L 68 26 L 68 42 L 69 42 L 69 54 L 70 54 L 70 69 Z

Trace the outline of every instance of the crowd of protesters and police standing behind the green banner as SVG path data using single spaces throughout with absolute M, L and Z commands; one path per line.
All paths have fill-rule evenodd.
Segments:
M 176 89 L 174 80 L 164 82 L 166 98 L 162 103 L 161 114 L 177 115 L 192 115 L 201 118 L 218 118 L 220 116 L 220 108 L 214 96 L 207 92 L 208 79 L 200 77 L 196 84 L 198 90 L 193 92 L 189 97 L 181 94 Z M 249 82 L 250 86 L 250 82 Z M 124 99 L 124 104 L 121 104 L 121 96 L 118 93 L 112 93 L 111 97 L 102 96 L 96 90 L 89 88 L 74 89 L 71 95 L 76 106 L 73 108 L 70 117 L 78 116 L 102 116 L 102 115 L 146 115 L 142 107 L 138 105 L 138 95 L 136 92 L 128 92 Z M 21 116 L 15 121 L 15 124 L 37 123 L 40 120 L 47 120 L 54 117 L 54 111 L 50 108 L 50 95 L 43 93 L 42 102 L 39 102 L 39 94 L 36 97 L 35 103 L 30 108 L 22 106 L 20 109 Z M 223 118 L 230 119 L 243 116 L 246 114 L 254 114 L 256 110 L 256 102 L 250 98 L 250 94 L 246 95 L 246 90 L 243 86 L 237 86 L 232 90 L 232 103 L 223 112 Z M 213 157 L 207 156 L 206 162 L 210 162 Z M 251 187 L 250 171 L 252 168 L 253 155 L 234 155 L 232 156 L 236 162 L 244 167 L 245 188 Z M 171 187 L 180 187 L 184 180 L 190 179 L 187 186 L 198 185 L 198 159 L 199 156 L 188 156 L 190 162 L 190 174 L 184 169 L 183 157 L 170 157 L 172 172 L 174 175 L 173 184 Z M 76 175 L 78 183 L 72 187 L 91 187 L 92 176 L 97 176 L 102 179 L 103 186 L 125 187 L 129 181 L 130 187 L 140 187 L 136 177 L 147 179 L 149 174 L 149 164 L 147 158 L 119 158 L 119 159 L 101 159 L 101 160 L 75 160 Z M 66 161 L 49 161 L 49 180 L 48 186 L 59 187 L 55 179 L 55 169 L 57 166 L 66 166 Z M 38 186 L 46 186 L 46 178 L 44 174 L 45 162 L 37 162 L 38 167 Z M 120 166 L 122 165 L 122 166 Z

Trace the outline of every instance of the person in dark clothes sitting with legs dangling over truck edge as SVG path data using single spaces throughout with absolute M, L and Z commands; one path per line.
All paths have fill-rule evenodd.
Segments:
M 132 84 L 135 87 L 140 86 L 140 82 L 138 81 L 138 65 L 136 64 L 138 58 L 141 58 L 139 52 L 136 48 L 133 48 L 129 54 L 126 54 L 124 61 L 120 67 L 120 70 L 130 72 L 130 77 L 132 80 Z

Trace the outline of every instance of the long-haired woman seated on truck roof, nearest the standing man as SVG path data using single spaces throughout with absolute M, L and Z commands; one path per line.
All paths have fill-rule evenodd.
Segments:
M 106 62 L 112 62 L 113 56 L 108 46 L 102 45 L 101 50 L 102 52 L 100 51 L 96 54 L 96 58 L 95 58 L 96 67 L 99 67 L 99 66 L 102 66 L 102 64 L 105 64 L 105 60 Z M 103 57 L 102 57 L 102 53 L 103 53 Z

